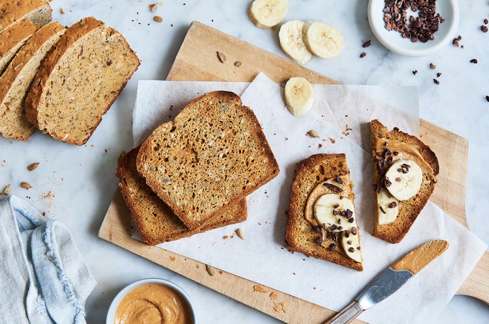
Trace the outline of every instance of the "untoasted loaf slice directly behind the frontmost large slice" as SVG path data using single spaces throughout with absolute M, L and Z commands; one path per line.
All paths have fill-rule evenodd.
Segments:
M 51 22 L 38 30 L 20 50 L 0 77 L 0 135 L 27 141 L 36 130 L 25 117 L 24 102 L 39 64 L 65 28 Z

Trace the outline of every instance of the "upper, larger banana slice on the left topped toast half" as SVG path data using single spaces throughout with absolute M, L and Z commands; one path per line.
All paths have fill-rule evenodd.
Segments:
M 334 210 L 336 210 L 334 212 Z M 347 215 L 341 215 L 340 211 L 346 211 Z M 333 232 L 340 232 L 351 227 L 357 227 L 355 206 L 347 198 L 340 199 L 339 195 L 326 194 L 316 200 L 314 204 L 314 217 L 318 224 L 325 224 Z M 350 221 L 352 219 L 353 221 Z

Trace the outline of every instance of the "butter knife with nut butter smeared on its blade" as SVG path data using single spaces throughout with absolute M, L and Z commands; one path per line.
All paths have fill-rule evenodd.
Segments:
M 448 242 L 433 240 L 419 246 L 402 259 L 392 264 L 379 275 L 358 298 L 325 324 L 347 324 L 357 318 L 364 310 L 382 302 L 396 292 L 408 280 L 421 271 L 429 262 L 448 249 Z

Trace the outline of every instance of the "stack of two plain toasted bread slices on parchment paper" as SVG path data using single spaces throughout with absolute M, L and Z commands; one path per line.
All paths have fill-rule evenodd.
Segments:
M 246 196 L 278 173 L 253 111 L 215 91 L 123 155 L 116 176 L 140 236 L 155 245 L 246 220 Z

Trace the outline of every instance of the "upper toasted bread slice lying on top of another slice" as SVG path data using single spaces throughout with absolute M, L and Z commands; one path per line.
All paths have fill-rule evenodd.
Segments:
M 232 92 L 206 93 L 142 144 L 138 171 L 190 229 L 279 173 L 260 123 Z

